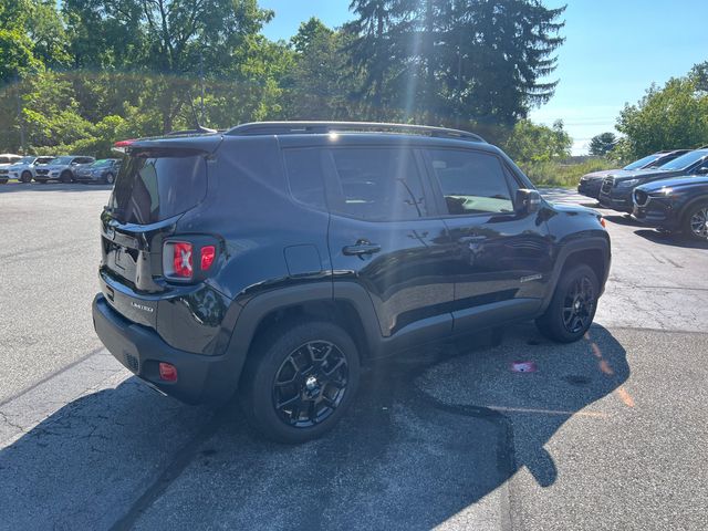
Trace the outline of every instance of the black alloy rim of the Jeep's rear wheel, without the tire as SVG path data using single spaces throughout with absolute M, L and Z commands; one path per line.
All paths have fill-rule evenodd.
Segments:
M 273 406 L 280 418 L 298 428 L 327 419 L 342 403 L 348 365 L 329 341 L 311 341 L 295 348 L 273 381 Z

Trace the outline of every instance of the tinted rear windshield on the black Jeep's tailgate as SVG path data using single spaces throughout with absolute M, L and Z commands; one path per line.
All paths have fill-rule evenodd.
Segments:
M 142 152 L 126 158 L 108 208 L 124 223 L 154 223 L 185 212 L 207 192 L 207 163 L 197 152 Z

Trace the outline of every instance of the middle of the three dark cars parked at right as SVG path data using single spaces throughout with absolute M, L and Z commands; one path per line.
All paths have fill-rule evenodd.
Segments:
M 621 212 L 632 214 L 634 207 L 632 192 L 637 186 L 671 177 L 705 174 L 708 174 L 708 148 L 695 149 L 660 168 L 617 171 L 605 177 L 600 190 L 600 204 Z

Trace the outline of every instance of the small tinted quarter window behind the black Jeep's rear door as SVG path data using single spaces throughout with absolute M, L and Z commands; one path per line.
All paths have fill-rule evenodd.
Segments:
M 326 210 L 321 155 L 321 149 L 288 149 L 283 154 L 292 197 Z

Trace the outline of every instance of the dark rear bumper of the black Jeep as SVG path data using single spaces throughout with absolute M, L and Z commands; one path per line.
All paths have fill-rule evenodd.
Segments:
M 156 332 L 124 319 L 102 294 L 93 301 L 93 323 L 108 352 L 140 379 L 187 404 L 219 403 L 237 388 L 242 357 L 227 351 L 205 356 L 165 343 Z M 159 363 L 177 368 L 177 382 L 159 377 Z

